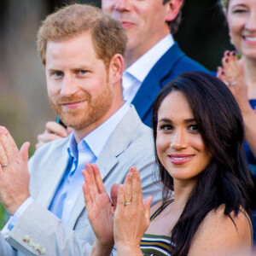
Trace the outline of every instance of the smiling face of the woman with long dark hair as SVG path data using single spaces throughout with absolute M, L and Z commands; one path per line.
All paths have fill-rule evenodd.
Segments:
M 172 91 L 160 105 L 156 150 L 174 182 L 195 180 L 212 159 L 189 102 L 179 91 Z

